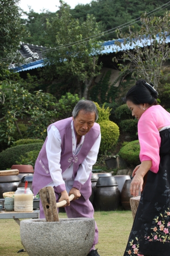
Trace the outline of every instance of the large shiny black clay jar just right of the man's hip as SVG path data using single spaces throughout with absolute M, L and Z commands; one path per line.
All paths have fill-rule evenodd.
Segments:
M 116 210 L 120 201 L 118 183 L 113 176 L 99 177 L 94 192 L 96 210 Z

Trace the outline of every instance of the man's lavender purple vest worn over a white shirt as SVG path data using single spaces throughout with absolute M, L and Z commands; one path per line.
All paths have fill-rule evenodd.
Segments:
M 55 127 L 59 130 L 61 137 L 61 158 L 60 158 L 60 168 L 62 173 L 66 171 L 66 169 L 73 162 L 73 177 L 75 179 L 78 167 L 85 160 L 85 157 L 88 155 L 90 149 L 94 145 L 96 139 L 100 134 L 100 126 L 97 123 L 94 123 L 93 127 L 90 131 L 85 135 L 84 143 L 79 151 L 79 153 L 75 156 L 72 152 L 72 132 L 71 132 L 71 122 L 72 117 L 57 121 L 49 126 L 55 125 Z M 46 153 L 46 142 L 47 138 L 42 146 L 42 149 L 38 155 L 38 158 L 34 167 L 34 177 L 33 177 L 33 191 L 34 195 L 36 195 L 39 190 L 49 183 L 52 182 L 47 153 Z M 87 200 L 92 192 L 91 188 L 91 175 L 88 180 L 80 189 L 81 194 Z

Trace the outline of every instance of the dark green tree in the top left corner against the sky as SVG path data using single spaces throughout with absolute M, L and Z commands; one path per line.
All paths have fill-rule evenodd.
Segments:
M 19 42 L 25 33 L 20 25 L 19 0 L 0 0 L 0 71 L 16 58 Z

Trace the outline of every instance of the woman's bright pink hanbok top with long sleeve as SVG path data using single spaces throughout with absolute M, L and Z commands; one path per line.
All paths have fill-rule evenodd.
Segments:
M 170 126 L 170 113 L 160 105 L 147 109 L 138 121 L 140 161 L 152 160 L 151 171 L 157 173 L 160 164 L 161 137 L 158 129 Z

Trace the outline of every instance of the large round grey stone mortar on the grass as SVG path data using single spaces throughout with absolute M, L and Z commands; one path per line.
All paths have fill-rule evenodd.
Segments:
M 93 245 L 91 218 L 26 219 L 20 222 L 21 243 L 29 256 L 87 256 Z

